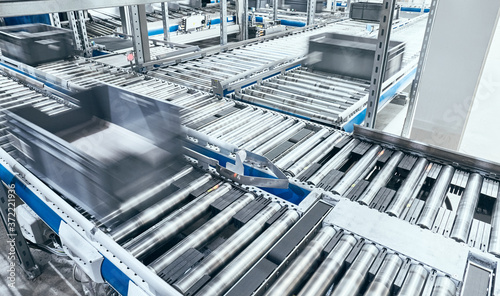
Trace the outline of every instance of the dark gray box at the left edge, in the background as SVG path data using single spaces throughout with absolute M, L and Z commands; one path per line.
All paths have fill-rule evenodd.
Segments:
M 1 27 L 0 48 L 4 56 L 31 66 L 74 54 L 72 32 L 45 24 Z

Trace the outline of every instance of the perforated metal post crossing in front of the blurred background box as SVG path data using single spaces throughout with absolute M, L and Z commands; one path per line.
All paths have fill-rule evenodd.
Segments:
M 395 6 L 396 0 L 384 0 L 382 3 L 377 48 L 375 50 L 375 62 L 373 64 L 372 79 L 370 81 L 370 90 L 368 93 L 368 105 L 366 106 L 365 126 L 368 128 L 375 127 L 378 102 L 382 92 L 382 84 L 384 83 Z

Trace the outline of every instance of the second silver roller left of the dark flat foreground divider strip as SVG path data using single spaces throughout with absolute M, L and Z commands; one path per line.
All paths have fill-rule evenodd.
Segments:
M 177 281 L 175 287 L 179 291 L 185 293 L 203 276 L 206 274 L 212 275 L 218 268 L 231 260 L 234 255 L 259 235 L 266 221 L 279 211 L 280 208 L 281 206 L 279 203 L 270 203 L 238 231 L 231 235 L 222 245 L 213 250 L 200 262 L 200 264 Z

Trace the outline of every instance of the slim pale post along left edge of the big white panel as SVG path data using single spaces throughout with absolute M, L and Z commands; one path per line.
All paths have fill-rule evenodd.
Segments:
M 432 0 L 431 7 L 436 7 L 438 0 Z M 415 108 L 417 101 L 417 90 L 420 83 L 420 78 L 422 77 L 422 70 L 424 67 L 424 61 L 427 54 L 427 47 L 429 46 L 429 35 L 431 34 L 432 25 L 434 23 L 435 13 L 429 13 L 427 18 L 427 27 L 425 30 L 424 41 L 422 42 L 422 49 L 420 50 L 420 58 L 417 65 L 417 73 L 415 74 L 415 79 L 411 84 L 410 98 L 408 100 L 408 111 L 406 112 L 406 118 L 403 125 L 403 131 L 401 136 L 409 137 L 411 124 L 413 122 L 413 117 L 415 116 Z

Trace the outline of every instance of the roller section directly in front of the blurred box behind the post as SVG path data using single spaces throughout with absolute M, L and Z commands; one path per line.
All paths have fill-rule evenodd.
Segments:
M 369 83 L 329 77 L 300 67 L 235 94 L 237 100 L 293 114 L 311 121 L 341 126 L 353 105 L 368 93 Z M 346 114 L 347 113 L 347 114 Z

